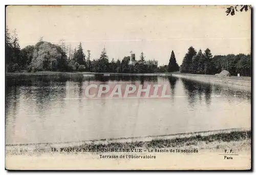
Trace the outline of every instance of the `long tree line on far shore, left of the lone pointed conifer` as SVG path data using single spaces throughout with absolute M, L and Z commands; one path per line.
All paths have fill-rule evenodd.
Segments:
M 67 56 L 69 55 L 69 56 Z M 175 58 L 174 58 L 175 59 Z M 175 60 L 176 61 L 176 60 Z M 167 72 L 166 66 L 157 67 L 155 64 L 145 64 L 145 55 L 140 54 L 136 64 L 130 64 L 130 56 L 122 60 L 109 61 L 106 49 L 103 48 L 98 59 L 91 60 L 91 51 L 84 53 L 81 42 L 71 51 L 61 40 L 60 45 L 44 41 L 41 37 L 34 46 L 20 49 L 16 31 L 13 36 L 6 30 L 6 71 L 7 72 L 110 72 L 110 73 L 155 73 Z

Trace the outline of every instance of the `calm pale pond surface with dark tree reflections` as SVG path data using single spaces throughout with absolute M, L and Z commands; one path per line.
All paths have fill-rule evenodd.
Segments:
M 89 84 L 166 84 L 172 98 L 77 99 Z M 6 78 L 6 144 L 250 128 L 251 93 L 174 77 Z

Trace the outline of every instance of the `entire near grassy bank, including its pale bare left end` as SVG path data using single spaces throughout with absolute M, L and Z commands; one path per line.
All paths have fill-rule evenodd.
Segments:
M 214 132 L 209 132 L 214 133 Z M 246 149 L 251 148 L 251 131 L 250 130 L 230 130 L 221 131 L 214 134 L 205 132 L 176 135 L 168 137 L 156 137 L 154 139 L 126 139 L 121 140 L 101 140 L 88 141 L 83 143 L 40 143 L 40 144 L 23 144 L 23 145 L 6 145 L 6 154 L 23 155 L 23 154 L 43 154 L 53 153 L 52 148 L 56 149 L 87 149 L 89 152 L 96 150 L 111 149 L 131 149 L 131 148 L 182 148 L 182 149 Z M 88 151 L 84 151 L 87 152 Z M 62 154 L 68 154 L 69 151 Z

